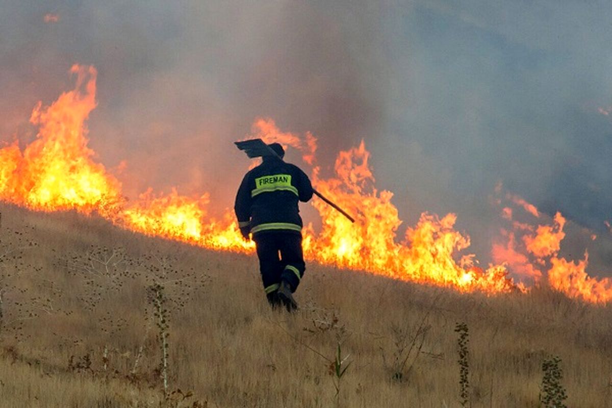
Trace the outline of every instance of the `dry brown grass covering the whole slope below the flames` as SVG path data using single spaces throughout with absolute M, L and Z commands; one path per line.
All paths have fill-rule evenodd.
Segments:
M 612 406 L 609 306 L 547 289 L 460 295 L 309 264 L 300 311 L 288 315 L 269 310 L 255 256 L 74 213 L 0 210 L 4 245 L 34 243 L 1 263 L 2 407 L 458 407 L 457 322 L 469 327 L 471 406 L 537 407 L 551 355 L 562 359 L 567 406 Z M 122 262 L 88 275 L 92 254 L 113 250 Z M 171 403 L 153 281 L 165 284 L 171 316 Z M 350 366 L 336 398 L 338 344 Z

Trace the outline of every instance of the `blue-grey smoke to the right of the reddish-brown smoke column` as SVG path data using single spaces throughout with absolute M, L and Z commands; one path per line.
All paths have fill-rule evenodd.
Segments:
M 476 247 L 498 233 L 499 211 L 484 198 L 501 181 L 550 217 L 560 210 L 594 230 L 588 248 L 599 257 L 589 259 L 608 267 L 612 122 L 600 108 L 612 95 L 610 4 L 411 4 L 387 24 L 401 35 L 390 35 L 397 86 L 389 138 L 376 146 L 386 152 L 379 180 L 409 191 L 411 213 L 457 211 Z

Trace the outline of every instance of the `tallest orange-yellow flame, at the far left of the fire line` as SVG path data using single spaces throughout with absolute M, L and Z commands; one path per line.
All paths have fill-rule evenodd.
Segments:
M 92 160 L 84 125 L 96 105 L 97 72 L 78 65 L 70 72 L 76 74 L 76 88 L 32 111 L 37 139 L 23 154 L 17 144 L 0 150 L 0 199 L 34 210 L 96 210 L 110 216 L 121 205 L 121 184 Z

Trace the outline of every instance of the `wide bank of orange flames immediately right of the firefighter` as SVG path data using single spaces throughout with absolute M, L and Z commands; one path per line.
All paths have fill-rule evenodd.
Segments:
M 357 222 L 352 224 L 322 201 L 313 202 L 323 226 L 317 236 L 312 226 L 306 230 L 304 251 L 309 258 L 461 291 L 512 290 L 504 267 L 482 270 L 474 266 L 472 254 L 458 256 L 469 247 L 470 239 L 453 229 L 457 221 L 453 213 L 442 218 L 422 213 L 416 226 L 408 228 L 403 240 L 397 242 L 401 220 L 391 203 L 393 193 L 376 190 L 369 158 L 362 141 L 358 147 L 340 152 L 335 162 L 336 177 L 321 179 L 315 168 L 313 183 L 317 190 L 352 213 Z

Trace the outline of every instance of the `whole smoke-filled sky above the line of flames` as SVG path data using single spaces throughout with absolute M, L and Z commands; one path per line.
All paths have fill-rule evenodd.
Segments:
M 231 207 L 248 168 L 231 142 L 271 117 L 312 132 L 328 173 L 364 139 L 405 226 L 455 212 L 486 258 L 501 183 L 602 237 L 605 267 L 610 21 L 603 1 L 0 0 L 0 140 L 31 141 L 35 103 L 92 64 L 89 146 L 129 196 Z

